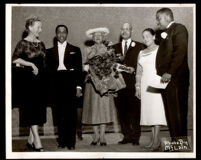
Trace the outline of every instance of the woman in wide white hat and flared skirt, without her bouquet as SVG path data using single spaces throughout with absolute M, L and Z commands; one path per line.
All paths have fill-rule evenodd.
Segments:
M 89 73 L 91 66 L 86 62 L 106 48 L 103 41 L 108 33 L 107 28 L 94 28 L 86 32 L 87 36 L 92 38 L 95 43 L 93 46 L 86 48 L 83 55 L 84 71 L 88 72 L 88 76 L 93 75 Z M 110 94 L 107 96 L 100 95 L 93 82 L 88 80 L 85 85 L 82 123 L 93 126 L 94 136 L 91 145 L 97 145 L 99 142 L 101 146 L 107 145 L 105 138 L 106 124 L 115 121 L 117 120 L 113 96 Z

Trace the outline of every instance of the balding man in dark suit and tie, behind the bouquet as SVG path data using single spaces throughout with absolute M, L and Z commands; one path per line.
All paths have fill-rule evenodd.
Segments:
M 113 46 L 116 54 L 122 54 L 123 65 L 136 70 L 137 57 L 144 48 L 144 45 L 131 39 L 132 26 L 129 23 L 123 24 L 121 28 L 122 42 Z M 135 72 L 134 72 L 135 73 Z M 124 135 L 119 144 L 132 143 L 139 145 L 141 135 L 140 127 L 140 101 L 135 97 L 135 74 L 122 72 L 126 88 L 118 92 L 115 98 L 121 131 Z

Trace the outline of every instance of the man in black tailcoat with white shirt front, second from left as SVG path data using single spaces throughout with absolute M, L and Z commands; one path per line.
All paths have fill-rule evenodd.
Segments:
M 68 28 L 56 27 L 57 43 L 48 49 L 46 67 L 53 89 L 54 110 L 57 118 L 59 147 L 75 149 L 76 96 L 82 96 L 82 57 L 80 48 L 68 43 Z

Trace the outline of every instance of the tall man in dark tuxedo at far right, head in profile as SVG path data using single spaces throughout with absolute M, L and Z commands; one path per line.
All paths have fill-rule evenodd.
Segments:
M 175 23 L 169 8 L 156 13 L 161 33 L 161 42 L 156 57 L 157 74 L 161 81 L 169 82 L 162 92 L 166 118 L 171 137 L 187 136 L 188 113 L 188 31 L 182 24 Z

